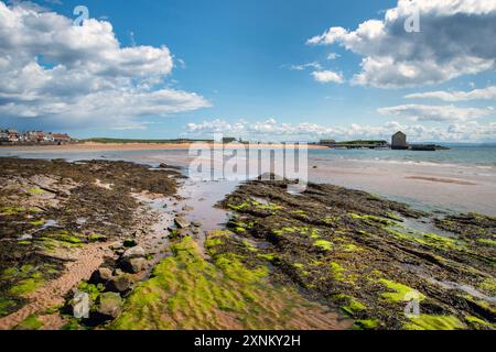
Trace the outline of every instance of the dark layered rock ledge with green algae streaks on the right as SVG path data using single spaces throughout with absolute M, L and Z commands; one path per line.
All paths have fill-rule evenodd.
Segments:
M 492 297 L 495 252 L 486 241 L 460 231 L 444 237 L 410 229 L 419 218 L 433 226 L 436 218 L 363 191 L 310 184 L 294 196 L 287 186 L 248 182 L 220 204 L 250 223 L 239 237 L 265 243 L 248 262 L 278 258 L 271 279 L 299 285 L 309 297 L 341 307 L 356 319 L 356 329 L 470 329 L 476 319 L 485 322 L 478 327 L 490 329 L 494 304 L 452 288 Z M 248 199 L 261 199 L 277 211 L 259 211 Z M 492 231 L 492 219 L 470 221 L 484 221 L 483 232 Z M 412 301 L 420 317 L 406 314 Z M 465 317 L 472 317 L 472 326 L 463 323 Z

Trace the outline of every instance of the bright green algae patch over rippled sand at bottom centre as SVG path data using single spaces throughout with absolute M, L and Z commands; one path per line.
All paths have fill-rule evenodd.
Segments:
M 191 238 L 172 244 L 172 256 L 155 267 L 152 278 L 133 290 L 122 315 L 109 328 L 319 328 L 296 308 L 305 307 L 305 312 L 316 316 L 325 312 L 302 300 L 292 288 L 273 286 L 263 261 L 249 261 L 257 254 L 233 235 L 226 231 L 208 235 L 205 246 L 212 261 L 202 256 Z M 331 324 L 332 321 L 324 328 Z

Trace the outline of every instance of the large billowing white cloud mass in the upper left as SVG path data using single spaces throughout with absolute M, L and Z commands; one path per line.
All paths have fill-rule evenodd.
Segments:
M 140 117 L 208 107 L 165 88 L 166 46 L 122 47 L 106 21 L 73 19 L 0 1 L 0 114 L 61 125 L 140 128 Z

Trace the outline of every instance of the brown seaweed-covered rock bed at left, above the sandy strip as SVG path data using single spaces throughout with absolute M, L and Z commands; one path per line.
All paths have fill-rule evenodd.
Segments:
M 128 237 L 139 207 L 133 193 L 174 195 L 179 176 L 126 162 L 1 157 L 0 317 L 60 277 L 86 244 Z

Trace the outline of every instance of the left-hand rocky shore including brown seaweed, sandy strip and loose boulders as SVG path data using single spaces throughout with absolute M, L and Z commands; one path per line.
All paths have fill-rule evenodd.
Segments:
M 105 289 L 86 282 L 100 265 L 114 263 L 108 287 L 130 289 L 154 255 L 138 244 L 160 237 L 157 215 L 141 200 L 174 196 L 183 177 L 125 162 L 1 158 L 0 166 L 1 329 L 71 322 L 73 312 L 61 310 L 67 301 Z

